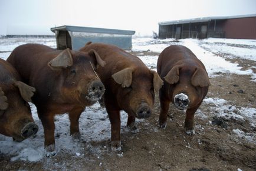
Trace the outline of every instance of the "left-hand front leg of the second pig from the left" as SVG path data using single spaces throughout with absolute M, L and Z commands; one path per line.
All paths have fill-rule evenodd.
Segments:
M 40 113 L 38 112 L 38 117 L 42 122 L 44 127 L 44 147 L 45 155 L 49 157 L 56 154 L 55 150 L 55 139 L 54 139 L 54 115 L 52 113 Z

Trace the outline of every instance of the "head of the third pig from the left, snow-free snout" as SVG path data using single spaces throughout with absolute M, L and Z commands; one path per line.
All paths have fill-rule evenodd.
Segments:
M 155 71 L 141 68 L 125 68 L 112 75 L 119 84 L 117 103 L 124 111 L 137 118 L 148 118 L 155 99 L 154 89 L 159 91 L 162 79 Z

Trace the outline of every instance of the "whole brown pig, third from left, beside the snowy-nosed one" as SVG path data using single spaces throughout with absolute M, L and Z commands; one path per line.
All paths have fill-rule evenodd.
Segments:
M 100 79 L 106 87 L 104 103 L 111 123 L 111 150 L 121 150 L 120 110 L 128 114 L 127 126 L 138 131 L 135 118 L 148 118 L 152 112 L 155 92 L 163 81 L 155 71 L 136 56 L 113 45 L 88 42 L 80 51 L 96 51 L 106 61 L 99 67 Z

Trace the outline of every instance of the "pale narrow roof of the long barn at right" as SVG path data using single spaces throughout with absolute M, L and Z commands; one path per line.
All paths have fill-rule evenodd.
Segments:
M 209 16 L 209 17 L 202 17 L 202 18 L 163 21 L 163 22 L 159 22 L 158 24 L 159 25 L 185 24 L 185 23 L 195 23 L 195 22 L 208 22 L 208 21 L 215 20 L 215 19 L 248 18 L 248 17 L 255 17 L 255 16 L 256 16 L 256 14 L 236 15 L 236 16 Z

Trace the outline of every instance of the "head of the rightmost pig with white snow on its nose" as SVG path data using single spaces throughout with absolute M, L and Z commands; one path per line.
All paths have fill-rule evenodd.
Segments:
M 207 72 L 198 66 L 174 66 L 164 79 L 172 86 L 170 98 L 181 110 L 201 103 L 204 98 L 203 88 L 210 85 Z

